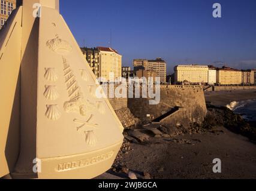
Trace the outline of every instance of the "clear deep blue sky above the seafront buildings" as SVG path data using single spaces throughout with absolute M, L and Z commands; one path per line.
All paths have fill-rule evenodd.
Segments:
M 222 18 L 212 17 L 212 5 Z M 80 46 L 112 47 L 123 65 L 162 57 L 176 64 L 215 63 L 256 68 L 255 0 L 60 0 L 61 14 Z

